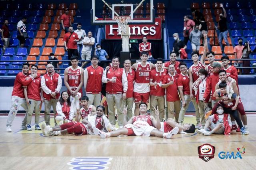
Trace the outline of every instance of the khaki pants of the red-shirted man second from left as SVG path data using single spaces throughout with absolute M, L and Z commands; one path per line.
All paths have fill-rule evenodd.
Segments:
M 40 118 L 40 103 L 41 101 L 36 101 L 36 100 L 33 100 L 33 99 L 28 99 L 29 101 L 31 101 L 31 104 L 28 105 L 28 113 L 26 114 L 23 122 L 22 122 L 22 125 L 25 124 L 25 120 L 26 120 L 26 124 L 27 125 L 31 125 L 31 119 L 32 119 L 32 114 L 33 112 L 35 111 L 35 124 L 38 124 L 39 123 L 39 118 Z

